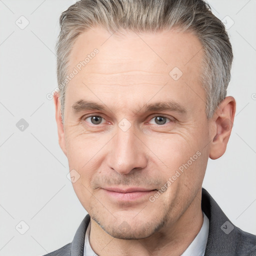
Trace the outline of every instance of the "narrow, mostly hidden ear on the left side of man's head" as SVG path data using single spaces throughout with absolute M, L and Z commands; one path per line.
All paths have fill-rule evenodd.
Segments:
M 61 119 L 61 111 L 60 111 L 60 99 L 59 99 L 59 92 L 55 92 L 53 95 L 54 105 L 55 105 L 55 119 L 57 123 L 57 130 L 58 130 L 58 143 L 66 155 L 66 147 L 65 147 L 65 136 L 64 136 L 64 127 L 62 124 Z

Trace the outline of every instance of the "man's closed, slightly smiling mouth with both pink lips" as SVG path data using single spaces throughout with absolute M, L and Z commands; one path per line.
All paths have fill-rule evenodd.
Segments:
M 144 199 L 148 198 L 151 193 L 156 191 L 156 189 L 142 187 L 106 187 L 102 189 L 110 199 L 115 201 L 135 201 L 138 199 Z

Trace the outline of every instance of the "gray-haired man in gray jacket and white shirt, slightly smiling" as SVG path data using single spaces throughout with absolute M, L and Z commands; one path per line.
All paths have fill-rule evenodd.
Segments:
M 47 255 L 256 255 L 203 189 L 226 149 L 232 49 L 202 0 L 80 0 L 60 17 L 58 139 L 88 212 Z

